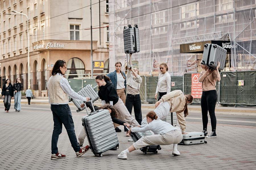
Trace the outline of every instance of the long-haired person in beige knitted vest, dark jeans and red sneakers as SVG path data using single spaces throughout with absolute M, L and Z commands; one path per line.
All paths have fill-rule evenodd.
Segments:
M 59 153 L 57 142 L 62 132 L 62 124 L 67 130 L 71 146 L 77 157 L 82 156 L 89 150 L 89 145 L 80 148 L 77 143 L 74 122 L 69 108 L 69 96 L 77 101 L 89 101 L 90 98 L 82 97 L 71 89 L 69 82 L 63 77 L 67 71 L 65 60 L 57 60 L 51 70 L 51 77 L 47 83 L 49 103 L 53 115 L 53 132 L 51 138 L 51 159 L 65 158 L 66 155 Z

